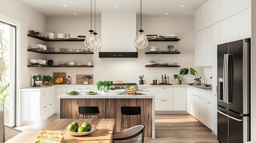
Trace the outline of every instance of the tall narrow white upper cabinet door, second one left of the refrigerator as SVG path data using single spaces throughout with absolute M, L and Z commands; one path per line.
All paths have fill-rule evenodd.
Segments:
M 213 48 L 213 26 L 209 26 L 206 29 L 206 65 L 212 66 L 212 48 Z

